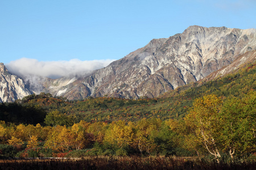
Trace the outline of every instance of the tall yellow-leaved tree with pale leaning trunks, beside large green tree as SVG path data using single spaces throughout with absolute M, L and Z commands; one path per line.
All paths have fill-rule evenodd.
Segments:
M 220 150 L 216 141 L 220 131 L 220 120 L 217 118 L 222 101 L 216 95 L 208 95 L 196 99 L 189 114 L 184 118 L 189 129 L 191 145 L 203 145 L 207 151 L 220 162 Z

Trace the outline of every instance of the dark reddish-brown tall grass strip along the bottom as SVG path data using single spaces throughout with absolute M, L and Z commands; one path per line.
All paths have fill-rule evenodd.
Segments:
M 2 160 L 0 169 L 255 169 L 256 162 L 198 162 L 191 158 L 91 156 L 82 159 Z

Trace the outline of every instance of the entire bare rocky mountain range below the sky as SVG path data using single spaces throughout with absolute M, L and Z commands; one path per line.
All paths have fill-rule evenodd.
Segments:
M 25 83 L 1 64 L 0 101 L 40 92 L 68 100 L 158 97 L 185 84 L 228 74 L 255 58 L 256 29 L 193 25 L 167 39 L 153 39 L 103 69 L 84 76 L 40 78 L 37 86 Z

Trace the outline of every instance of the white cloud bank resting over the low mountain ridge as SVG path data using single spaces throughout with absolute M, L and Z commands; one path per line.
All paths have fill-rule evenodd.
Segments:
M 115 59 L 100 59 L 81 61 L 71 59 L 69 61 L 38 61 L 31 58 L 20 58 L 6 65 L 10 73 L 21 77 L 39 75 L 48 78 L 60 78 L 61 76 L 82 75 L 90 71 L 101 69 L 109 65 Z

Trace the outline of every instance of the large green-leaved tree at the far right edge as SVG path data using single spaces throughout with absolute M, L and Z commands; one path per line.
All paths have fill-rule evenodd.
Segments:
M 227 100 L 220 112 L 221 143 L 230 157 L 255 150 L 256 92 Z

